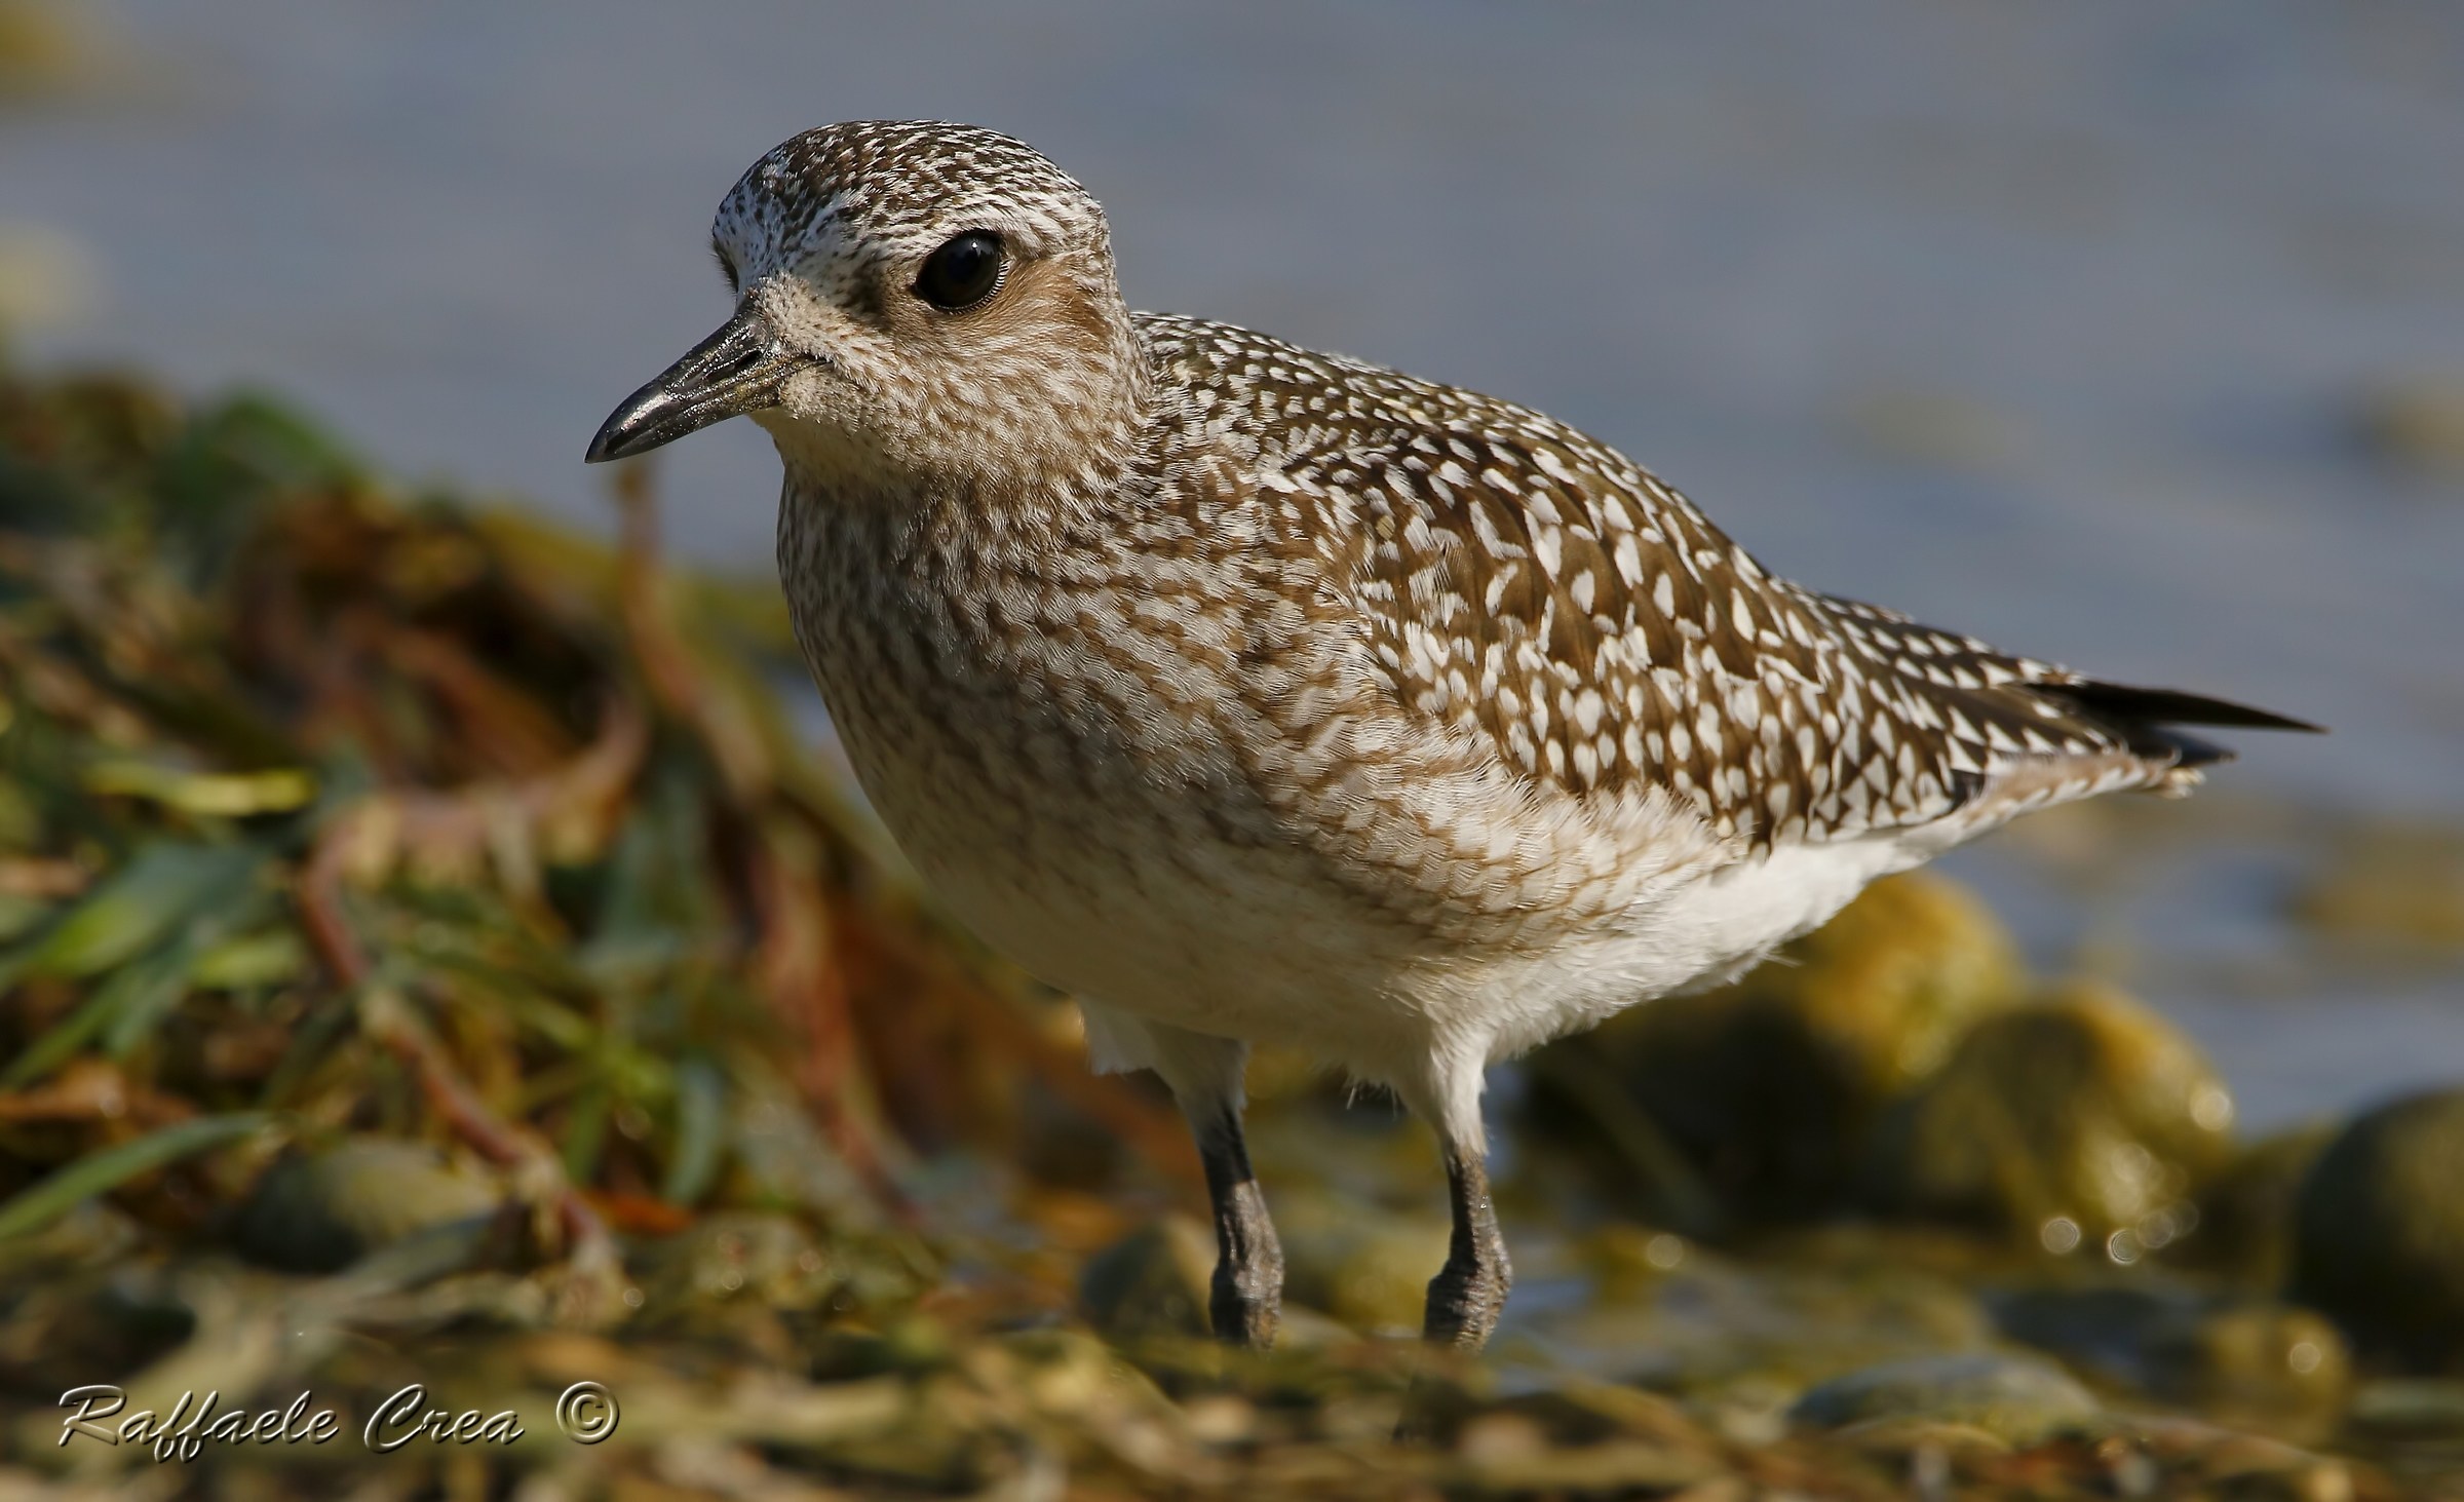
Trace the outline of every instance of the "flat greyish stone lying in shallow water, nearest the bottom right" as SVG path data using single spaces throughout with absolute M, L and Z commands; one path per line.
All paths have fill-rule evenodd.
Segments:
M 1801 1428 L 1880 1421 L 1954 1423 L 2011 1445 L 2033 1445 L 2097 1418 L 2097 1399 L 2035 1357 L 1969 1352 L 1865 1367 L 1806 1391 L 1789 1408 Z

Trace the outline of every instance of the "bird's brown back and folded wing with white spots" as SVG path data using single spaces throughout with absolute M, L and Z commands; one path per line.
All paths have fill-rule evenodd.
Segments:
M 1345 584 L 1397 704 L 1525 778 L 1663 788 L 1749 847 L 1937 820 L 2020 761 L 2075 761 L 2082 790 L 2188 781 L 2178 751 L 2129 756 L 2040 692 L 2077 675 L 1774 579 L 1542 414 L 1227 325 L 1141 325 L 1170 384 L 1259 443 L 1276 544 Z

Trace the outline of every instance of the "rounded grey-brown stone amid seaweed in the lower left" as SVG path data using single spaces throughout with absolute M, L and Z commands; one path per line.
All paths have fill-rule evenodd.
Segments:
M 421 1231 L 495 1216 L 503 1189 L 399 1138 L 293 1150 L 256 1179 L 232 1221 L 239 1251 L 291 1273 L 335 1273 Z

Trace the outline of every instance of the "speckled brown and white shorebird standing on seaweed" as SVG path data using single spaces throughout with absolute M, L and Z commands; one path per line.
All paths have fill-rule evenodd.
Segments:
M 1424 1332 L 1508 1290 L 1483 1074 L 1742 973 L 2008 817 L 2181 793 L 2181 724 L 1764 571 L 1528 406 L 1131 313 L 1104 209 L 991 131 L 806 131 L 719 204 L 734 315 L 609 416 L 611 460 L 752 416 L 779 576 L 857 778 L 936 896 L 1079 997 L 1198 1140 L 1220 1337 L 1281 1251 L 1249 1044 L 1395 1091 L 1454 1211 Z

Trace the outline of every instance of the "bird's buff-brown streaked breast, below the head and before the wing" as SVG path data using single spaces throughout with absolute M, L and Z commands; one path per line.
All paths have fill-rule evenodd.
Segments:
M 1188 640 L 1205 623 L 1141 620 L 1136 579 L 1023 574 L 793 502 L 779 564 L 882 822 L 1045 980 L 1200 997 L 1225 933 L 1313 901 L 1222 721 L 1212 648 Z

